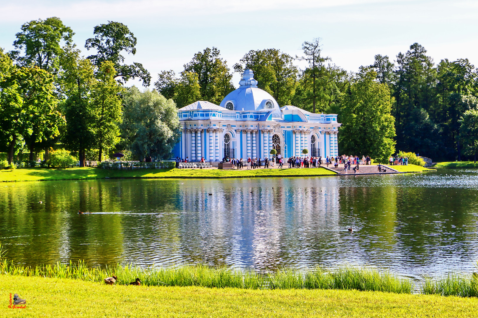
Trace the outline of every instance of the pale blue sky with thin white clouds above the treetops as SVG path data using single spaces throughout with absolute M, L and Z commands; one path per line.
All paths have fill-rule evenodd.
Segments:
M 127 62 L 143 63 L 152 82 L 161 70 L 181 72 L 206 47 L 217 47 L 232 68 L 249 50 L 300 54 L 301 43 L 314 37 L 348 71 L 369 65 L 378 53 L 394 59 L 413 42 L 435 62 L 468 58 L 478 66 L 478 1 L 0 0 L 0 47 L 12 49 L 22 23 L 52 16 L 76 32 L 85 55 L 94 26 L 108 20 L 128 25 L 138 45 Z

